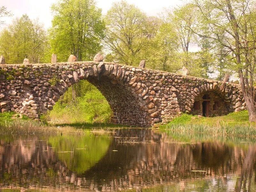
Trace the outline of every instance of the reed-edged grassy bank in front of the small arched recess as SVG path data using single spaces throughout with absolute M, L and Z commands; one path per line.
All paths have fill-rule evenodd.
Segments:
M 248 119 L 248 111 L 234 112 L 218 117 L 197 117 L 182 114 L 170 123 L 161 125 L 160 129 L 172 132 L 256 137 L 256 125 L 250 123 Z

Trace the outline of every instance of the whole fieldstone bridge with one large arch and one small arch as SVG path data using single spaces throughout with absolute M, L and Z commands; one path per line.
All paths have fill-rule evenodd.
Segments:
M 105 96 L 117 124 L 150 127 L 182 112 L 220 116 L 246 108 L 238 84 L 87 61 L 0 65 L 1 112 L 38 119 L 68 87 L 85 79 Z

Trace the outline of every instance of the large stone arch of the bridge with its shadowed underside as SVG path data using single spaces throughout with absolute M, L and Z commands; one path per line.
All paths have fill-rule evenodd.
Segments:
M 103 62 L 80 67 L 74 65 L 63 67 L 65 70 L 60 69 L 62 72 L 57 77 L 56 85 L 51 86 L 52 90 L 48 90 L 45 96 L 40 97 L 43 106 L 39 113 L 52 110 L 60 95 L 63 95 L 72 84 L 87 80 L 95 85 L 108 101 L 113 111 L 113 123 L 140 127 L 151 125 L 148 110 L 155 109 L 157 106 L 148 96 L 148 87 L 141 82 L 132 68 L 130 70 L 115 63 L 104 64 Z M 56 78 L 54 74 L 52 78 Z M 45 98 L 49 99 L 46 101 Z

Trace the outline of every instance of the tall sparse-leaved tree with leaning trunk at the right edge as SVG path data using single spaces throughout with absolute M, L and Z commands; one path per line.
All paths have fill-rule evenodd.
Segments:
M 254 68 L 255 55 L 255 4 L 250 0 L 194 0 L 198 8 L 198 26 L 195 34 L 219 43 L 234 60 L 249 112 L 249 121 L 256 122 Z

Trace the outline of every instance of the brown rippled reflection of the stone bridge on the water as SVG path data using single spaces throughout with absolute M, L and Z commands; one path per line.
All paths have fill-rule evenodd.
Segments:
M 115 191 L 180 183 L 182 189 L 186 182 L 219 178 L 227 190 L 234 174 L 248 178 L 249 186 L 255 183 L 252 182 L 256 158 L 254 145 L 243 150 L 220 141 L 180 144 L 172 143 L 172 138 L 165 133 L 151 130 L 116 131 L 105 155 L 85 172 L 78 173 L 68 169 L 67 163 L 72 160 L 61 161 L 56 149 L 46 141 L 37 138 L 29 138 L 33 140 L 29 142 L 2 140 L 0 186 Z M 75 157 L 70 154 L 70 158 Z M 236 191 L 240 191 L 244 183 L 243 177 L 238 179 Z

